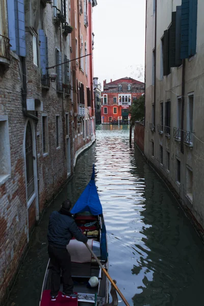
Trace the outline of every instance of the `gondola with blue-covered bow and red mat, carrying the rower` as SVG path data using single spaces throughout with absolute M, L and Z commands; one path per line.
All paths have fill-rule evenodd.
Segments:
M 80 198 L 71 210 L 75 222 L 88 237 L 88 245 L 108 272 L 108 244 L 103 210 L 95 186 L 95 171 Z M 102 306 L 108 303 L 109 282 L 104 271 L 98 266 L 86 245 L 71 239 L 67 249 L 71 255 L 71 275 L 74 282 L 73 291 L 78 298 L 62 297 L 61 289 L 56 301 L 50 299 L 50 281 L 52 264 L 48 262 L 45 272 L 40 306 Z M 96 276 L 96 287 L 90 287 L 89 279 Z

